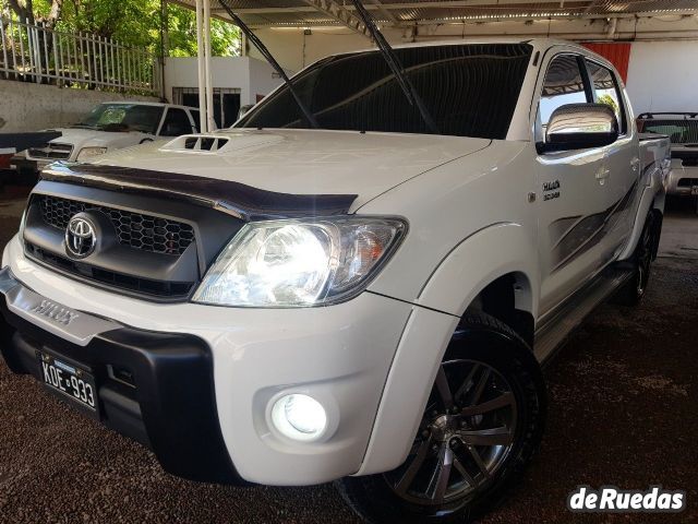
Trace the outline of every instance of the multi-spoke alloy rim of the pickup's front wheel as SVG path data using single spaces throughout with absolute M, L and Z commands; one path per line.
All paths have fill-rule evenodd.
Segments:
M 410 455 L 385 474 L 400 498 L 421 505 L 466 499 L 488 484 L 510 452 L 517 402 L 491 366 L 442 362 Z

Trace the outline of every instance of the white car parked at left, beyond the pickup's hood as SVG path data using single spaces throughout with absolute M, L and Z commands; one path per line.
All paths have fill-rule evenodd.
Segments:
M 62 136 L 31 147 L 13 164 L 20 170 L 40 170 L 56 160 L 85 162 L 107 152 L 159 138 L 196 132 L 198 110 L 151 102 L 99 104 L 83 120 L 60 128 Z

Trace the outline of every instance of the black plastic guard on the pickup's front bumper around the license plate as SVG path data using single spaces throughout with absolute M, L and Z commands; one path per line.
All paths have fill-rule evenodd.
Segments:
M 82 347 L 10 311 L 5 294 L 22 284 L 7 267 L 0 281 L 0 350 L 13 372 L 40 379 L 35 356 L 40 348 L 84 364 L 95 370 L 103 424 L 149 446 L 166 472 L 190 480 L 246 484 L 222 440 L 213 358 L 203 340 L 122 326 Z M 110 379 L 109 365 L 129 369 L 135 388 Z

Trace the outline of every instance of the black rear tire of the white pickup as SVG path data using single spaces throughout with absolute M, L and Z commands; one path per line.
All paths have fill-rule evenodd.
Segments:
M 652 270 L 652 261 L 657 258 L 659 237 L 661 234 L 661 215 L 650 211 L 645 221 L 640 239 L 630 258 L 631 277 L 614 297 L 613 301 L 622 306 L 637 306 L 645 297 Z

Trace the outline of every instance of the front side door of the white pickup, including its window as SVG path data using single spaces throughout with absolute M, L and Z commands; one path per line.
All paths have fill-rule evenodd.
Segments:
M 543 64 L 545 68 L 545 64 Z M 559 52 L 547 60 L 537 108 L 535 142 L 544 141 L 552 112 L 566 104 L 591 103 L 583 58 Z M 601 241 L 609 209 L 604 150 L 537 156 L 540 311 L 545 314 L 606 262 Z

